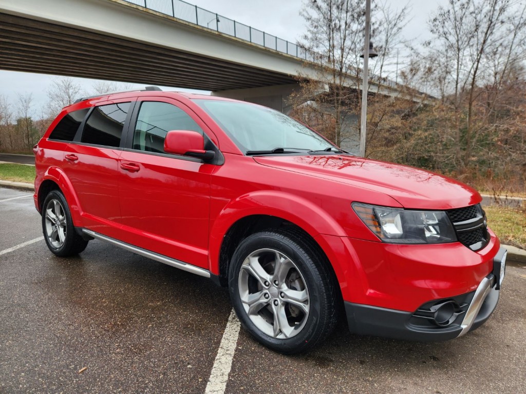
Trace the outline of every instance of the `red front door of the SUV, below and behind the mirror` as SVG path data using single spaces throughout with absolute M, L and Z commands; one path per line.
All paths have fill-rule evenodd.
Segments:
M 163 101 L 161 101 L 163 100 Z M 119 158 L 125 242 L 208 268 L 210 173 L 216 167 L 164 152 L 170 130 L 206 125 L 176 100 L 141 97 Z

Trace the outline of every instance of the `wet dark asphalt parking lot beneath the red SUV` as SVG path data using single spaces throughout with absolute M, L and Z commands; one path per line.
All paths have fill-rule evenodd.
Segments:
M 225 289 L 100 241 L 55 257 L 31 193 L 0 188 L 0 217 L 1 393 L 205 393 Z M 526 393 L 526 269 L 508 265 L 490 320 L 448 342 L 340 324 L 307 355 L 276 354 L 242 328 L 234 343 L 227 393 Z

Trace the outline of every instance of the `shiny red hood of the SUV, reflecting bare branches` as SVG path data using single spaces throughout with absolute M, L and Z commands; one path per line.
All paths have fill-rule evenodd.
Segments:
M 404 208 L 452 209 L 482 200 L 476 190 L 463 183 L 401 164 L 349 155 L 257 156 L 254 160 L 269 167 L 385 193 Z

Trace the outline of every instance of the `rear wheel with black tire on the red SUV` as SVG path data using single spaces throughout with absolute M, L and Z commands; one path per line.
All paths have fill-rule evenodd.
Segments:
M 78 235 L 64 194 L 50 191 L 42 206 L 42 230 L 49 250 L 60 257 L 84 251 L 88 241 Z

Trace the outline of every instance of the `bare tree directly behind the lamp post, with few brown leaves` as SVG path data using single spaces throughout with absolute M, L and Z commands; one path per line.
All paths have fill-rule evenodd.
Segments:
M 378 6 L 373 4 L 372 12 L 379 17 L 373 22 L 372 35 L 381 43 L 381 56 L 376 64 L 383 72 L 393 46 L 402 43 L 401 29 L 407 23 L 408 8 L 378 11 Z M 356 115 L 360 112 L 361 102 L 360 55 L 365 34 L 365 2 L 309 0 L 301 15 L 307 24 L 302 45 L 319 56 L 315 66 L 317 75 L 311 79 L 299 76 L 301 91 L 294 97 L 295 115 L 306 116 L 308 111 L 308 116 L 302 120 L 318 128 L 321 126 L 325 135 L 340 145 L 345 141 L 346 133 L 353 131 L 356 134 L 360 128 Z M 313 67 L 312 64 L 309 66 Z M 371 69 L 375 70 L 374 62 Z M 375 92 L 374 89 L 371 92 Z

